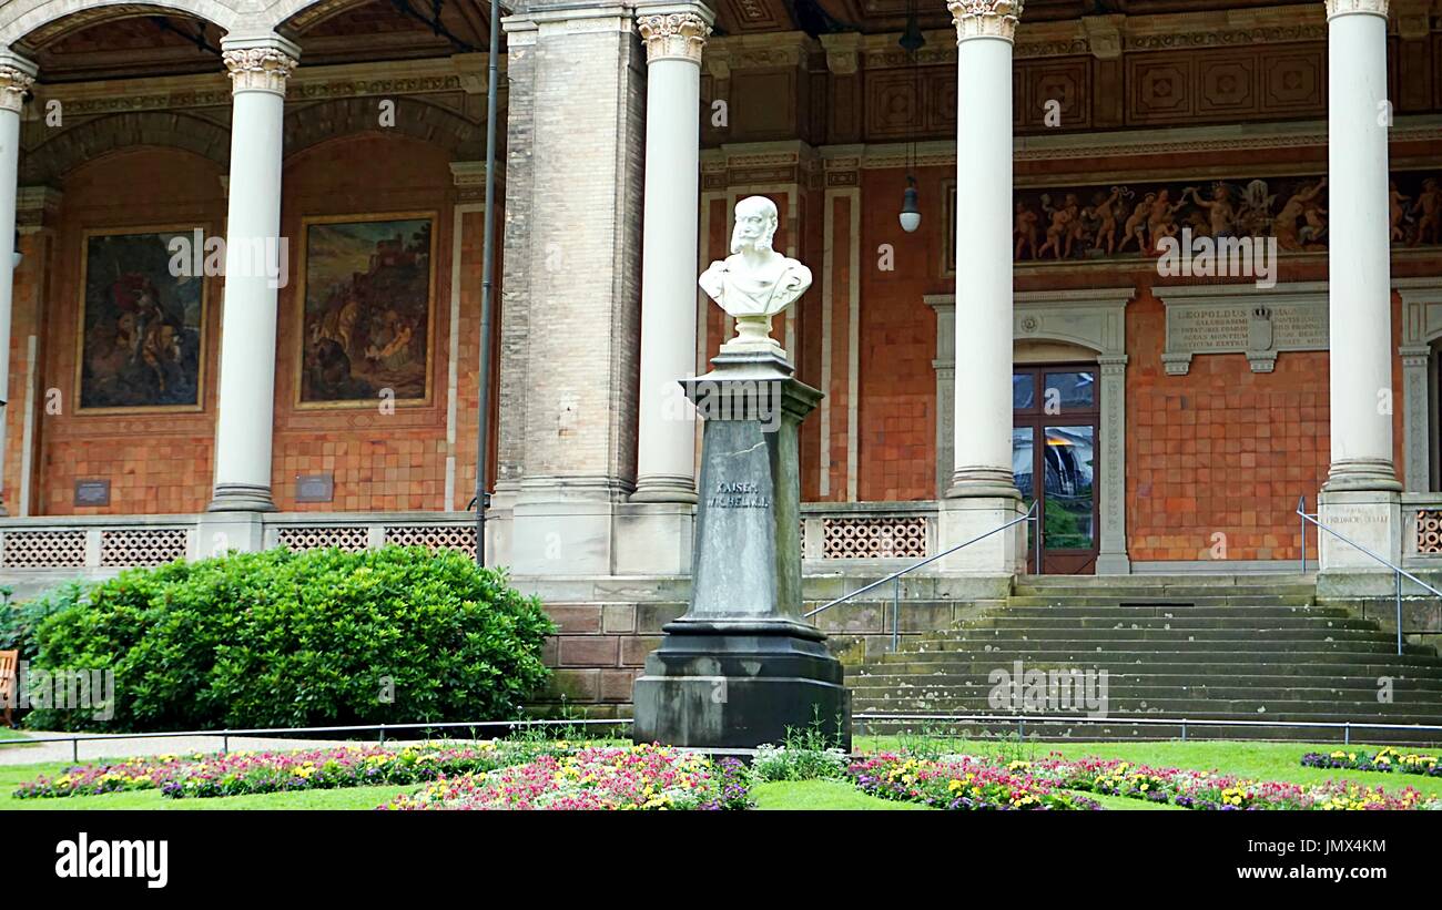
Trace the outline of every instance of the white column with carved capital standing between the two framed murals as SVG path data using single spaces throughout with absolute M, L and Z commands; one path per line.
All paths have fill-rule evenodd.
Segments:
M 298 48 L 278 36 L 226 39 L 231 72 L 231 184 L 226 220 L 221 392 L 211 511 L 273 511 L 271 425 L 275 403 L 275 295 L 265 251 L 280 236 L 286 79 Z M 271 252 L 271 262 L 278 262 Z

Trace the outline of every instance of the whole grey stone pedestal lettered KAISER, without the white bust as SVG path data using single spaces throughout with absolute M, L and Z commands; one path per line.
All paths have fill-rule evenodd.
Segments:
M 636 681 L 636 740 L 750 749 L 819 721 L 849 749 L 841 661 L 800 615 L 796 439 L 822 395 L 774 354 L 711 363 L 682 382 L 705 419 L 691 608 Z

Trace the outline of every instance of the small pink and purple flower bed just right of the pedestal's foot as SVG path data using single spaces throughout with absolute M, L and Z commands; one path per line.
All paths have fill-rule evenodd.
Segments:
M 1099 809 L 1094 799 L 1058 792 L 1050 780 L 1025 769 L 956 756 L 926 760 L 881 753 L 852 763 L 851 778 L 862 792 L 939 809 Z

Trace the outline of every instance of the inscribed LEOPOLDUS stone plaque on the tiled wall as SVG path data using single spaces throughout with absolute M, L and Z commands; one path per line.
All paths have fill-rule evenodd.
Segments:
M 1167 373 L 1185 376 L 1195 354 L 1246 354 L 1253 373 L 1270 373 L 1279 351 L 1325 351 L 1327 292 L 1250 285 L 1156 288 L 1167 305 Z

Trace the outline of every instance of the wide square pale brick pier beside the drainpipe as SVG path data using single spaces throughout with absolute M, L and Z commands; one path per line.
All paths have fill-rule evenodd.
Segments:
M 610 575 L 624 559 L 616 521 L 636 488 L 645 52 L 636 7 L 622 0 L 534 0 L 505 26 L 529 58 L 512 86 L 525 112 L 508 127 L 509 147 L 529 148 L 529 202 L 512 207 L 506 194 L 506 268 L 526 271 L 529 312 L 510 318 L 502 353 L 513 361 L 505 389 L 522 389 L 510 400 L 525 409 L 510 420 L 523 446 L 506 448 L 525 459 L 506 472 L 510 567 L 529 585 Z

